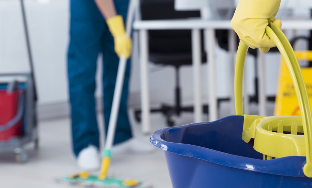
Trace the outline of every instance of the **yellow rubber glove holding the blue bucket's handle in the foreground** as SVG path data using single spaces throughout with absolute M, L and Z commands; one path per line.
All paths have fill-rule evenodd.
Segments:
M 281 28 L 280 19 L 275 19 L 279 7 L 280 0 L 240 0 L 231 26 L 249 47 L 268 52 L 275 44 L 265 33 L 266 26 L 273 22 Z

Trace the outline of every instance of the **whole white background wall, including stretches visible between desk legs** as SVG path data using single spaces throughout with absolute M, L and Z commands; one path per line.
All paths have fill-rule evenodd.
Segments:
M 64 103 L 68 101 L 66 77 L 66 52 L 69 41 L 69 0 L 52 0 L 37 3 L 26 0 L 35 75 L 39 93 L 39 105 Z M 219 96 L 227 96 L 229 91 L 229 68 L 227 52 L 217 47 L 217 89 Z M 268 78 L 267 93 L 274 94 L 278 77 L 279 55 L 266 55 Z M 249 91 L 253 92 L 253 60 L 247 64 Z M 99 63 L 100 66 L 100 63 Z M 99 67 L 100 68 L 100 67 Z M 203 100 L 207 101 L 207 70 L 202 68 Z M 100 70 L 100 69 L 99 69 Z M 174 70 L 150 65 L 150 87 L 152 103 L 173 102 Z M 0 73 L 29 71 L 26 44 L 22 27 L 20 4 L 18 0 L 0 1 Z M 100 80 L 98 75 L 97 80 Z M 181 69 L 183 101 L 192 103 L 192 67 Z M 100 87 L 100 84 L 98 84 Z M 139 62 L 132 63 L 130 93 L 132 103 L 139 103 Z M 101 96 L 101 89 L 96 92 Z

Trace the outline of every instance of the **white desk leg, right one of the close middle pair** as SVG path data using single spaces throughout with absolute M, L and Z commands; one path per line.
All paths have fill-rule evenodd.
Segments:
M 216 47 L 216 37 L 214 29 L 205 30 L 205 44 L 207 46 L 207 68 L 208 68 L 208 95 L 209 95 L 209 121 L 215 121 L 218 118 L 218 108 L 217 108 L 217 87 L 216 87 L 216 61 L 215 61 L 215 47 Z

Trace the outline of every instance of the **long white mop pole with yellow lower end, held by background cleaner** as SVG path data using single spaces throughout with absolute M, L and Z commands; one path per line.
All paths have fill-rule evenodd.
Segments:
M 129 7 L 127 12 L 127 20 L 126 20 L 126 33 L 127 36 L 130 36 L 132 20 L 134 17 L 134 10 L 136 7 L 136 0 L 129 0 Z M 108 124 L 108 131 L 105 141 L 105 148 L 102 152 L 102 164 L 100 174 L 98 176 L 99 179 L 104 179 L 108 173 L 108 168 L 110 166 L 110 160 L 112 158 L 112 146 L 115 138 L 115 131 L 117 125 L 117 117 L 120 106 L 120 98 L 122 94 L 122 88 L 124 83 L 124 74 L 127 67 L 127 59 L 124 56 L 121 56 L 119 59 L 117 78 L 113 96 L 112 109 L 110 112 L 110 121 Z

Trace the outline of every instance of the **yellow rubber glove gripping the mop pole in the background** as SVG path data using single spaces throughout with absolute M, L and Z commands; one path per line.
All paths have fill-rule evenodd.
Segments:
M 131 55 L 131 38 L 127 36 L 124 29 L 124 21 L 120 15 L 106 19 L 110 32 L 114 37 L 115 52 L 118 57 L 124 56 L 129 58 Z

